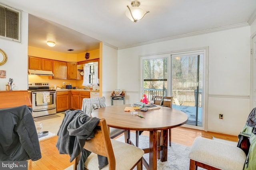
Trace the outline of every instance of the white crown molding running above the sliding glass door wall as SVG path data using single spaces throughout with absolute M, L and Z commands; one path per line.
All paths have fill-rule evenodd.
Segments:
M 169 40 L 179 39 L 179 38 L 184 38 L 184 37 L 191 37 L 191 36 L 195 36 L 195 35 L 202 35 L 202 34 L 206 34 L 206 33 L 224 31 L 227 29 L 240 28 L 240 27 L 245 27 L 245 26 L 249 26 L 248 22 L 236 23 L 233 25 L 211 28 L 211 29 L 206 29 L 206 30 L 202 30 L 202 31 L 186 33 L 186 34 L 176 35 L 176 36 L 162 38 L 162 39 L 156 39 L 156 40 L 147 41 L 147 42 L 143 42 L 143 43 L 132 44 L 132 45 L 128 45 L 128 46 L 121 46 L 121 47 L 118 47 L 118 50 L 119 49 L 127 49 L 127 48 L 131 48 L 131 47 L 138 47 L 141 45 L 148 45 L 148 44 L 152 44 L 152 43 L 158 43 L 158 42 L 162 42 L 162 41 L 169 41 Z

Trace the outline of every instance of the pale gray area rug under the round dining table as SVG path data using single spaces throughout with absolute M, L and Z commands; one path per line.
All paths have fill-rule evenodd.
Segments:
M 135 133 L 131 133 L 131 139 L 135 143 Z M 124 142 L 124 135 L 116 139 L 117 141 Z M 139 147 L 147 148 L 149 146 L 149 137 L 145 135 L 140 135 Z M 177 143 L 172 143 L 172 147 L 168 146 L 168 158 L 166 162 L 161 162 L 157 160 L 158 170 L 189 170 L 189 153 L 190 147 L 180 145 Z M 148 161 L 149 154 L 144 154 L 144 158 Z M 73 170 L 73 165 L 66 168 L 65 170 Z M 136 170 L 136 168 L 134 168 Z M 146 168 L 143 166 L 143 170 Z M 198 167 L 198 170 L 204 170 Z

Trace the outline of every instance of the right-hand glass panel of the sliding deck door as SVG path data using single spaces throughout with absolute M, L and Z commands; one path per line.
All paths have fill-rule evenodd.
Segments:
M 186 124 L 202 126 L 203 54 L 172 57 L 172 108 L 188 115 Z

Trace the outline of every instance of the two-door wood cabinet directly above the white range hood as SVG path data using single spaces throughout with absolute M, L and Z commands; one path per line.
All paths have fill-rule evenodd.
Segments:
M 28 69 L 52 71 L 52 60 L 28 56 Z

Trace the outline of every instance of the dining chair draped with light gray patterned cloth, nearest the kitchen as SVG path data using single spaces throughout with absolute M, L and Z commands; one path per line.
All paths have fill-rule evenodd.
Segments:
M 104 96 L 99 98 L 84 98 L 82 102 L 82 111 L 87 115 L 91 116 L 92 111 L 95 109 L 99 109 L 102 107 L 106 107 L 106 99 Z M 115 137 L 124 133 L 124 129 L 117 129 L 113 127 L 109 127 L 110 138 L 114 139 Z

